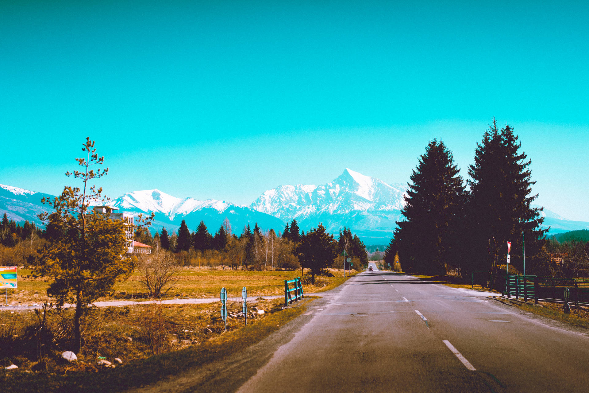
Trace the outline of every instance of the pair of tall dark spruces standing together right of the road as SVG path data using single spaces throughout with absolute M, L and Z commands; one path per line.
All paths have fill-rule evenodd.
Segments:
M 496 273 L 511 242 L 511 264 L 522 271 L 524 233 L 527 273 L 540 271 L 548 229 L 541 227 L 543 208 L 531 206 L 538 194 L 530 164 L 513 128 L 499 130 L 495 119 L 477 143 L 466 181 L 444 142 L 430 141 L 412 171 L 386 262 L 398 255 L 408 272 Z

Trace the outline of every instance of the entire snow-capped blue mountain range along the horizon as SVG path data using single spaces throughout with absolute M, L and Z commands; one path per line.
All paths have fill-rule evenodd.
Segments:
M 109 204 L 134 216 L 155 213 L 152 231 L 164 226 L 177 230 L 182 220 L 186 220 L 190 230 L 196 230 L 203 220 L 209 232 L 214 233 L 227 217 L 237 234 L 247 224 L 255 223 L 263 230 L 272 228 L 279 232 L 286 222 L 296 219 L 303 230 L 323 223 L 336 234 L 343 226 L 350 227 L 366 245 L 373 245 L 386 244 L 391 239 L 395 221 L 401 218 L 405 189 L 403 184 L 387 184 L 346 169 L 322 186 L 297 184 L 267 190 L 249 207 L 214 199 L 181 199 L 157 189 L 125 193 Z M 52 196 L 0 184 L 0 216 L 6 213 L 16 222 L 29 220 L 42 226 L 37 218 L 37 214 L 47 210 L 41 204 L 42 197 Z M 543 214 L 550 233 L 589 229 L 589 222 L 567 220 L 546 209 Z

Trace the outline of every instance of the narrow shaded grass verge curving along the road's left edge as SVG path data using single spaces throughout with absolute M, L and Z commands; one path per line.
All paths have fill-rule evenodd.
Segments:
M 163 376 L 177 375 L 187 369 L 204 366 L 256 344 L 280 329 L 280 326 L 301 315 L 313 298 L 305 298 L 298 304 L 294 303 L 292 308 L 286 309 L 282 309 L 280 303 L 276 302 L 264 318 L 252 319 L 245 327 L 221 333 L 200 345 L 136 359 L 117 368 L 101 368 L 91 372 L 66 370 L 64 374 L 2 370 L 0 384 L 6 391 L 24 393 L 118 392 L 152 384 Z

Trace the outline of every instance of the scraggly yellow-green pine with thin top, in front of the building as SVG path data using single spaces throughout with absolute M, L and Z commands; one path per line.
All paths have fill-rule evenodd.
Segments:
M 55 214 L 41 213 L 39 219 L 51 219 L 53 224 L 65 230 L 62 236 L 47 242 L 40 250 L 32 271 L 35 276 L 52 280 L 47 294 L 55 296 L 59 308 L 66 302 L 75 303 L 75 352 L 82 344 L 80 320 L 88 312 L 88 305 L 112 293 L 115 282 L 131 275 L 137 261 L 133 254 L 127 254 L 127 223 L 90 210 L 92 201 L 102 200 L 102 189 L 90 186 L 89 181 L 104 176 L 108 169 L 91 169 L 94 165 L 101 165 L 104 157 L 98 157 L 90 138 L 82 151 L 87 157 L 76 158 L 81 170 L 66 173 L 68 177 L 80 179 L 82 189 L 64 187 L 61 195 L 53 200 L 41 200 L 51 206 Z

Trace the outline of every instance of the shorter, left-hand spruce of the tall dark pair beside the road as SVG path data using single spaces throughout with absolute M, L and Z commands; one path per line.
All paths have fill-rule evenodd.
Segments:
M 464 211 L 465 186 L 451 151 L 434 139 L 419 157 L 408 183 L 405 220 L 395 240 L 402 263 L 414 272 L 444 275 L 458 247 L 456 221 Z

